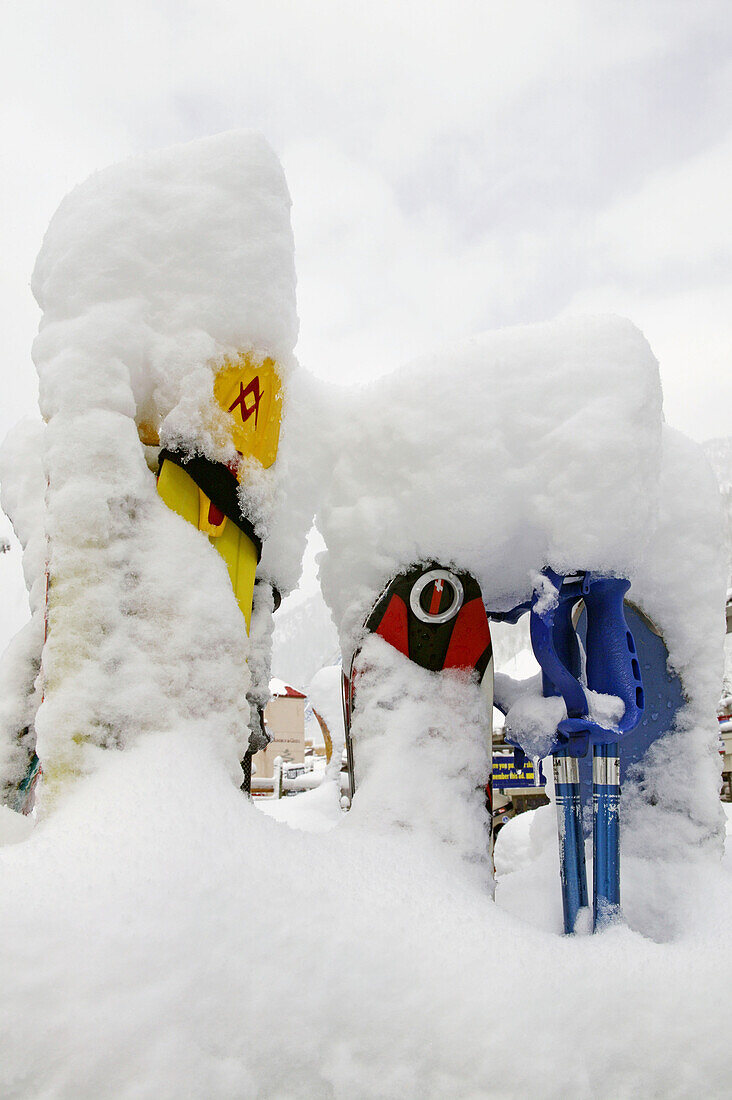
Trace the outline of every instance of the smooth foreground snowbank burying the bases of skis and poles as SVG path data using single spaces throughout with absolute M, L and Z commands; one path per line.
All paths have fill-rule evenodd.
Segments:
M 493 904 L 335 787 L 262 809 L 153 737 L 1 849 L 3 1097 L 729 1094 L 732 856 L 671 942 L 566 939 L 529 818 Z

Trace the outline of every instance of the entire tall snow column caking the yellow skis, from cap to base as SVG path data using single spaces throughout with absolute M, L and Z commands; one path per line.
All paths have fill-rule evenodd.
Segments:
M 289 196 L 275 155 L 263 139 L 234 132 L 97 173 L 54 216 L 33 290 L 47 421 L 33 454 L 44 473 L 41 540 L 37 509 L 33 535 L 21 514 L 28 473 L 18 457 L 6 464 L 3 494 L 36 590 L 47 560 L 35 718 L 45 795 L 91 770 L 99 748 L 164 729 L 211 737 L 236 778 L 249 714 L 243 619 L 221 558 L 157 496 L 138 429 L 231 458 L 215 372 L 242 352 L 275 359 L 282 462 L 259 479 L 256 499 L 277 546 L 265 547 L 261 575 L 284 592 L 296 583 L 312 479 L 297 422 Z M 259 603 L 256 703 L 271 646 L 271 603 Z

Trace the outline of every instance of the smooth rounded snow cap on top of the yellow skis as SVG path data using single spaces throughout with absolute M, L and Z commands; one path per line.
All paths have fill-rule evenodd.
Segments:
M 204 414 L 221 352 L 291 362 L 293 254 L 287 185 L 256 134 L 95 173 L 61 204 L 33 273 L 41 411 L 113 409 L 212 446 Z

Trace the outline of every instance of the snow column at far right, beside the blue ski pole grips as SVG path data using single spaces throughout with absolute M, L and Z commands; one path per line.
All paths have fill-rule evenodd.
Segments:
M 674 912 L 678 864 L 721 851 L 717 702 L 724 634 L 724 547 L 715 481 L 701 449 L 664 429 L 658 520 L 629 595 L 660 631 L 686 705 L 623 792 L 624 844 L 658 861 Z M 673 916 L 671 916 L 673 920 Z

